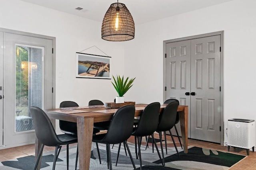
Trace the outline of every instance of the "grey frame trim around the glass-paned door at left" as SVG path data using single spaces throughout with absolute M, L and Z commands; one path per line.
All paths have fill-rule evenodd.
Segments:
M 56 37 L 50 37 L 47 35 L 40 35 L 40 34 L 35 34 L 35 33 L 28 33 L 28 32 L 24 32 L 24 31 L 16 31 L 13 29 L 6 29 L 6 28 L 1 28 L 0 27 L 0 32 L 3 33 L 12 33 L 12 34 L 17 34 L 17 35 L 24 35 L 24 36 L 29 36 L 29 37 L 36 37 L 36 38 L 42 38 L 42 39 L 49 39 L 52 40 L 52 48 L 53 53 L 52 53 L 52 87 L 53 87 L 53 94 L 52 94 L 52 107 L 55 108 L 55 100 L 56 100 L 56 53 L 55 53 L 55 49 L 56 49 Z M 52 125 L 53 127 L 55 127 L 55 121 L 52 121 Z

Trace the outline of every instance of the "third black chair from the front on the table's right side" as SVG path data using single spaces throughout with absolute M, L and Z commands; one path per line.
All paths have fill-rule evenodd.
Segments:
M 178 102 L 176 102 L 176 101 L 170 102 L 164 108 L 164 110 L 161 111 L 161 113 L 159 115 L 159 123 L 158 123 L 158 127 L 156 129 L 156 132 L 159 133 L 160 145 L 161 145 L 164 165 L 165 165 L 165 161 L 164 161 L 164 151 L 163 151 L 163 144 L 162 144 L 162 132 L 165 132 L 165 131 L 170 132 L 174 147 L 176 149 L 176 152 L 177 152 L 178 156 L 180 157 L 178 149 L 176 147 L 175 141 L 174 141 L 172 133 L 171 133 L 171 129 L 175 125 L 176 115 L 177 115 L 176 113 L 177 113 L 178 106 L 179 106 Z M 166 146 L 166 150 L 167 150 L 167 146 Z

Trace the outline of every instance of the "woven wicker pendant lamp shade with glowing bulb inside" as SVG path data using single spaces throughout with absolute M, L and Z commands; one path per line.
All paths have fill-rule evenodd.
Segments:
M 107 41 L 134 39 L 135 27 L 132 15 L 122 3 L 111 4 L 101 27 L 101 37 Z

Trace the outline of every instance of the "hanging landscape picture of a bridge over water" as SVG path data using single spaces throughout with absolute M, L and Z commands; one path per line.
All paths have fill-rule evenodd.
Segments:
M 76 53 L 76 77 L 111 79 L 110 62 L 111 57 Z

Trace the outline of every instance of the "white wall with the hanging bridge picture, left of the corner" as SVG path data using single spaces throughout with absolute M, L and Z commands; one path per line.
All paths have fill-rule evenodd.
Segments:
M 20 0 L 1 0 L 0 4 L 0 27 L 56 37 L 56 107 L 64 100 L 80 106 L 92 99 L 114 100 L 117 93 L 111 80 L 76 78 L 75 73 L 76 52 L 94 45 L 112 57 L 112 74 L 124 73 L 123 43 L 102 40 L 100 22 Z

